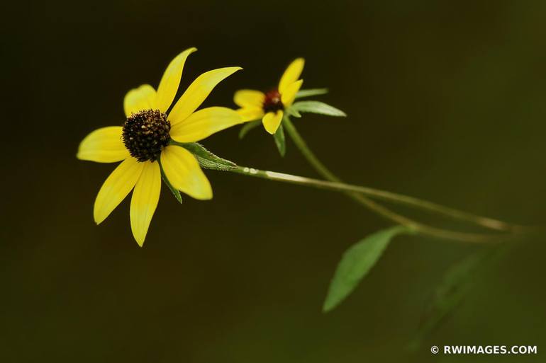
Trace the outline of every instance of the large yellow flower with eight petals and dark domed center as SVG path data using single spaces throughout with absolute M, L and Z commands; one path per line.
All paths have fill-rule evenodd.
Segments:
M 96 196 L 94 219 L 96 224 L 104 221 L 134 188 L 130 226 L 139 246 L 143 246 L 160 198 L 162 170 L 172 188 L 198 200 L 212 198 L 211 185 L 195 156 L 180 146 L 169 145 L 170 140 L 197 142 L 243 122 L 229 108 L 196 111 L 213 88 L 240 67 L 201 74 L 167 113 L 177 94 L 186 58 L 195 51 L 196 48 L 184 50 L 170 62 L 157 91 L 144 84 L 126 94 L 123 108 L 127 118 L 123 126 L 96 129 L 79 144 L 78 159 L 97 163 L 121 161 Z

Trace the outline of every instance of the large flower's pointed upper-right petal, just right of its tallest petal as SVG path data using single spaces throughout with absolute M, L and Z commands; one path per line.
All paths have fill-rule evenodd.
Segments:
M 203 103 L 214 87 L 241 67 L 226 67 L 205 72 L 191 83 L 169 113 L 171 125 L 186 120 Z

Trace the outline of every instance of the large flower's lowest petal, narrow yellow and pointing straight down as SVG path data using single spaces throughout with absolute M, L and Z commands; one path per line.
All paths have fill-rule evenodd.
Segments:
M 142 247 L 152 221 L 157 202 L 160 200 L 161 171 L 157 162 L 146 161 L 130 200 L 130 228 Z

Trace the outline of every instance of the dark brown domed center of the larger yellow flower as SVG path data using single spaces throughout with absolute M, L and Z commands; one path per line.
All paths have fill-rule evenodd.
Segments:
M 123 124 L 123 144 L 138 161 L 155 161 L 169 144 L 170 129 L 167 115 L 160 110 L 139 111 Z

